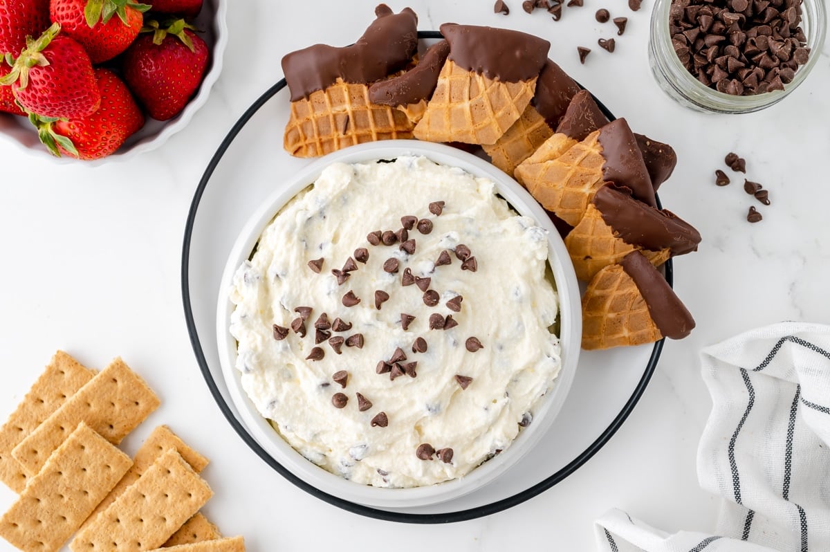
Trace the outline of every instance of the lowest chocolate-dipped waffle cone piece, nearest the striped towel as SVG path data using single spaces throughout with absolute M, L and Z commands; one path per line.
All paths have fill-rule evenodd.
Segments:
M 610 349 L 689 335 L 695 320 L 640 252 L 598 271 L 582 300 L 582 348 Z

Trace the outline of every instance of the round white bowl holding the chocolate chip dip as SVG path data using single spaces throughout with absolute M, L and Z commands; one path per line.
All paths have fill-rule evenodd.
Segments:
M 337 163 L 364 164 L 376 162 L 378 159 L 398 159 L 399 157 L 407 156 L 422 156 L 435 164 L 461 169 L 475 178 L 490 179 L 495 183 L 497 195 L 509 203 L 510 208 L 521 216 L 530 217 L 534 226 L 544 229 L 547 235 L 547 264 L 553 276 L 554 288 L 559 301 L 559 313 L 556 320 L 559 325 L 560 364 L 559 374 L 556 376 L 552 387 L 544 393 L 544 396 L 532 408 L 532 423 L 527 425 L 527 427 L 523 427 L 515 439 L 509 442 L 509 446 L 505 447 L 502 452 L 486 460 L 486 462 L 481 463 L 478 467 L 471 469 L 466 475 L 449 481 L 426 486 L 388 488 L 349 481 L 344 476 L 327 471 L 323 467 L 311 462 L 307 457 L 291 447 L 289 442 L 286 442 L 286 439 L 260 413 L 256 404 L 251 400 L 251 397 L 249 397 L 243 387 L 242 373 L 237 369 L 237 340 L 231 335 L 229 330 L 232 322 L 232 314 L 236 305 L 230 300 L 229 290 L 233 286 L 234 276 L 237 274 L 240 266 L 251 258 L 251 254 L 254 252 L 263 232 L 274 217 L 276 217 L 276 214 L 281 212 L 281 209 L 291 203 L 291 200 L 300 192 L 303 192 L 305 188 L 309 188 L 310 184 L 314 183 L 320 177 L 324 169 Z M 522 188 L 519 183 L 516 183 L 514 179 L 483 159 L 444 144 L 432 144 L 414 140 L 388 140 L 360 144 L 339 150 L 333 154 L 326 155 L 324 158 L 315 160 L 299 173 L 295 173 L 291 177 L 286 178 L 284 183 L 277 183 L 277 186 L 278 188 L 275 192 L 253 213 L 245 227 L 243 227 L 242 232 L 240 232 L 239 237 L 237 237 L 237 241 L 234 243 L 232 251 L 228 256 L 225 271 L 222 275 L 222 284 L 217 301 L 217 344 L 219 347 L 219 358 L 222 364 L 222 374 L 242 423 L 251 432 L 251 435 L 261 447 L 295 476 L 298 476 L 311 486 L 315 486 L 320 491 L 357 504 L 381 508 L 427 506 L 466 495 L 496 479 L 500 474 L 518 462 L 526 453 L 530 452 L 535 443 L 544 437 L 545 432 L 551 423 L 553 423 L 554 418 L 564 403 L 574 379 L 582 335 L 579 285 L 574 275 L 574 268 L 571 265 L 568 252 L 564 247 L 564 242 L 559 237 L 559 233 L 556 231 L 552 222 L 550 222 L 544 209 L 540 207 L 539 203 L 536 203 L 535 199 L 530 196 L 530 193 L 525 188 Z M 425 201 L 432 201 L 432 199 Z M 417 239 L 417 237 L 421 236 L 413 229 L 410 232 L 410 237 Z M 291 247 L 295 241 L 295 237 L 286 237 L 286 247 Z M 364 246 L 364 244 L 359 245 Z M 358 246 L 356 245 L 355 247 Z M 365 247 L 369 247 L 370 256 L 378 254 L 371 246 Z M 398 244 L 389 249 L 390 252 L 392 250 L 397 251 Z M 312 256 L 311 258 L 314 257 Z M 455 268 L 457 270 L 460 261 L 455 256 L 452 256 L 452 262 L 456 265 Z M 332 268 L 337 267 L 339 266 L 333 266 L 331 263 L 327 263 L 323 267 L 323 272 L 328 273 Z M 306 267 L 303 268 L 309 270 Z M 355 274 L 357 275 L 359 272 Z M 398 273 L 395 276 L 399 279 L 401 274 Z M 339 289 L 345 292 L 347 288 L 348 286 L 341 286 Z M 420 294 L 420 291 L 417 289 L 414 292 Z M 442 300 L 445 298 L 442 297 Z M 362 299 L 364 303 L 371 303 L 373 301 L 371 297 L 363 297 Z M 474 300 L 474 298 L 470 297 L 465 300 L 469 302 Z M 462 303 L 462 308 L 463 305 L 464 303 Z M 314 335 L 314 322 L 319 314 L 319 312 L 312 313 L 310 319 L 306 321 L 310 335 Z M 333 319 L 334 315 L 331 315 L 330 320 Z M 413 339 L 416 335 L 413 334 Z M 313 338 L 306 338 L 306 340 L 309 340 L 310 344 L 314 343 Z M 484 341 L 485 349 L 483 350 L 486 350 L 487 342 L 486 340 Z M 319 346 L 325 348 L 329 359 L 337 358 L 334 357 L 328 344 L 323 342 Z M 343 350 L 344 353 L 349 352 L 345 348 Z M 407 349 L 406 353 L 410 354 L 410 351 Z M 343 357 L 347 358 L 345 354 Z M 331 368 L 331 371 L 337 369 L 334 368 L 336 365 L 332 364 L 333 368 Z M 374 364 L 366 367 L 366 369 L 374 372 Z M 378 375 L 376 377 L 386 378 L 385 375 Z M 407 376 L 402 377 L 408 379 Z M 354 392 L 359 390 L 354 387 L 342 389 L 350 397 L 352 404 L 349 406 L 351 408 L 357 408 Z M 334 384 L 329 391 L 339 392 L 341 389 Z M 374 402 L 377 403 L 377 400 Z M 334 407 L 331 408 L 334 410 Z M 439 448 L 444 444 L 435 443 L 435 448 Z M 440 462 L 436 457 L 433 458 L 432 462 Z M 358 459 L 357 462 L 360 462 L 360 460 Z

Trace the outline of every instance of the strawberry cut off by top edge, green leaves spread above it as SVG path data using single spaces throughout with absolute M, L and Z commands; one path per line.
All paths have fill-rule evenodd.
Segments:
M 51 20 L 84 46 L 93 64 L 107 61 L 127 49 L 139 36 L 142 12 L 149 5 L 134 0 L 51 0 Z M 117 15 L 118 17 L 112 17 Z

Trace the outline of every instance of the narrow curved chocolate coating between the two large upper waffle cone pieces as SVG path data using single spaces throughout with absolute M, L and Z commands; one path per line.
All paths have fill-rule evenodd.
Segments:
M 369 101 L 394 107 L 429 100 L 449 54 L 450 44 L 445 40 L 429 46 L 423 59 L 413 69 L 401 76 L 378 81 L 369 86 Z

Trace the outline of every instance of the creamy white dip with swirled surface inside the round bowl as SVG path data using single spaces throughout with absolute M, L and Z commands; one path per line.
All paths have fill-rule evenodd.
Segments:
M 428 208 L 437 201 L 445 202 L 440 216 Z M 408 232 L 414 254 L 398 242 L 369 244 L 369 232 L 398 231 L 404 215 L 433 224 L 428 234 Z M 470 248 L 477 271 L 461 270 L 453 253 L 458 244 Z M 338 285 L 331 270 L 358 247 L 369 250 L 368 261 Z M 445 250 L 452 264 L 435 266 Z M 318 274 L 308 262 L 320 257 Z M 400 262 L 397 273 L 383 271 L 390 257 Z M 351 481 L 412 487 L 463 476 L 510 446 L 523 417 L 526 424 L 559 374 L 559 339 L 549 331 L 558 300 L 545 276 L 547 257 L 547 233 L 512 212 L 489 179 L 425 158 L 332 164 L 274 218 L 234 277 L 230 330 L 238 341 L 242 386 L 292 447 Z M 432 279 L 429 289 L 440 295 L 436 306 L 425 305 L 417 286 L 401 285 L 407 267 Z M 378 290 L 389 295 L 379 310 Z M 344 306 L 348 291 L 360 298 L 358 305 Z M 463 297 L 460 312 L 446 305 L 457 295 Z M 276 340 L 273 325 L 290 328 L 297 306 L 312 308 L 307 335 L 289 330 Z M 330 321 L 352 324 L 331 335 L 360 333 L 363 348 L 343 346 L 336 354 L 327 341 L 315 344 L 314 322 L 324 312 Z M 415 316 L 408 330 L 401 313 Z M 452 315 L 458 325 L 430 330 L 433 313 Z M 471 336 L 482 349 L 466 349 Z M 418 337 L 426 340 L 426 352 L 413 353 Z M 306 359 L 315 346 L 325 357 Z M 417 377 L 391 380 L 376 373 L 378 361 L 398 347 L 407 356 L 403 364 L 417 361 Z M 349 374 L 345 388 L 332 380 L 339 370 Z M 472 379 L 466 389 L 456 375 Z M 334 407 L 334 393 L 347 396 L 344 408 Z M 360 412 L 355 393 L 371 408 Z M 372 427 L 381 412 L 388 426 Z M 452 448 L 452 461 L 418 458 L 422 443 Z

